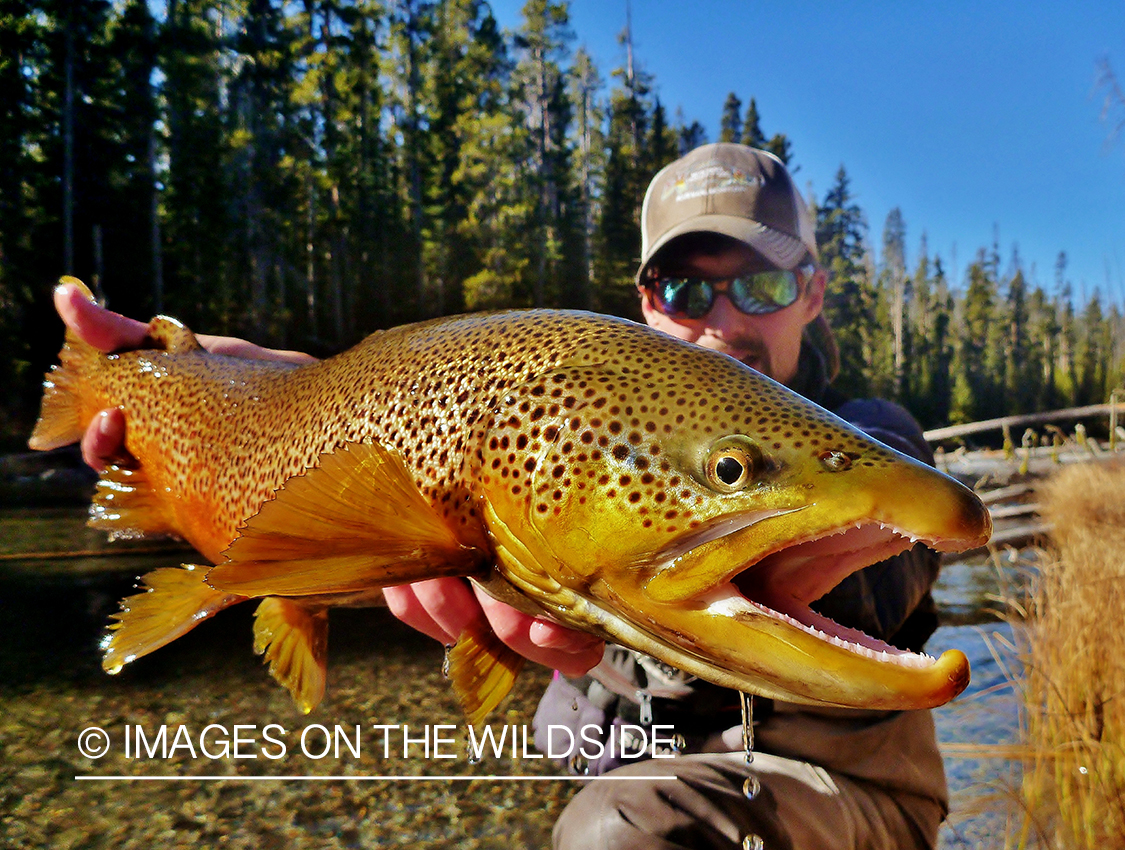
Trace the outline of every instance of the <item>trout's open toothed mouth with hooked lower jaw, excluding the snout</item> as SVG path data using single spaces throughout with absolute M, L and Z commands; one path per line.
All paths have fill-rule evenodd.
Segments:
M 901 650 L 810 605 L 916 543 L 963 549 L 987 528 L 958 523 L 910 533 L 871 517 L 818 523 L 816 513 L 750 512 L 681 539 L 639 596 L 616 595 L 629 622 L 603 615 L 605 632 L 714 684 L 785 702 L 911 709 L 960 694 L 969 682 L 963 653 L 935 659 Z M 799 525 L 803 534 L 793 533 Z

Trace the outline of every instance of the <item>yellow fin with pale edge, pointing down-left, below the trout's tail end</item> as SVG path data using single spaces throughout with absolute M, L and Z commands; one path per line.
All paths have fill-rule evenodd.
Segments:
M 102 669 L 118 673 L 125 664 L 171 643 L 223 608 L 244 597 L 213 589 L 206 567 L 164 567 L 142 578 L 142 593 L 122 600 L 101 643 Z

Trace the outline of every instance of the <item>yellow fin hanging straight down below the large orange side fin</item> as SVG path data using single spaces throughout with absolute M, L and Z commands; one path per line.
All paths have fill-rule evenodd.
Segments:
M 292 695 L 302 714 L 308 714 L 324 697 L 328 612 L 290 599 L 262 599 L 254 612 L 254 652 L 266 657 L 270 676 Z

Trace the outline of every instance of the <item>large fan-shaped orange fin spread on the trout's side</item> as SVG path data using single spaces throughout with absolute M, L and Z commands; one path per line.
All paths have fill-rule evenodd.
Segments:
M 314 596 L 467 576 L 486 559 L 464 545 L 397 454 L 353 443 L 290 478 L 212 569 L 240 596 Z

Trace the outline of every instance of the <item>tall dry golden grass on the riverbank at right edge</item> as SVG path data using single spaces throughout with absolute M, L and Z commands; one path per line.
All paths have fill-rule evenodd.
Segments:
M 1041 504 L 1056 558 L 1027 612 L 1023 816 L 1009 840 L 1125 848 L 1125 464 L 1069 467 Z

